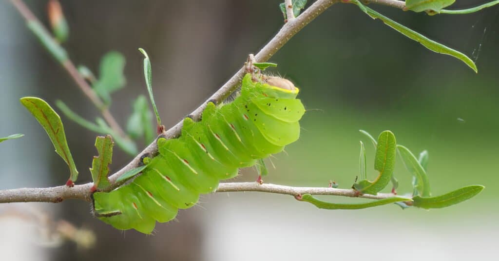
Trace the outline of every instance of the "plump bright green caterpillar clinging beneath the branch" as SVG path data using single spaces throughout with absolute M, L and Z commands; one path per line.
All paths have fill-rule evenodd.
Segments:
M 172 220 L 221 179 L 296 141 L 305 112 L 298 91 L 283 78 L 246 74 L 234 101 L 209 102 L 201 121 L 184 119 L 179 138 L 158 138 L 159 154 L 144 158 L 141 175 L 111 192 L 95 192 L 96 216 L 118 229 L 151 233 L 156 220 Z

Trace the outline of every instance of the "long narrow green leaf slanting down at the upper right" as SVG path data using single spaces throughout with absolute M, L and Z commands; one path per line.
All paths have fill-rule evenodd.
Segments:
M 404 34 L 405 36 L 423 44 L 426 48 L 437 52 L 437 53 L 443 53 L 447 55 L 451 55 L 453 57 L 456 57 L 460 60 L 462 60 L 464 63 L 466 63 L 468 66 L 470 66 L 475 72 L 478 72 L 477 65 L 475 62 L 473 62 L 472 59 L 470 59 L 468 56 L 466 56 L 464 53 L 459 52 L 455 49 L 449 48 L 441 43 L 438 43 L 432 39 L 427 38 L 426 36 L 422 35 L 419 32 L 413 31 L 412 29 L 382 15 L 381 13 L 364 6 L 362 3 L 360 3 L 358 0 L 350 0 L 351 3 L 357 4 L 363 10 L 365 13 L 367 13 L 369 16 L 371 16 L 373 19 L 379 18 L 381 19 L 386 25 L 394 28 L 395 30 L 399 31 L 400 33 Z

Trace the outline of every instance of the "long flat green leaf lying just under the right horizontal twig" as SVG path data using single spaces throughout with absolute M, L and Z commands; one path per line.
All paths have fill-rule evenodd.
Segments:
M 401 202 L 401 201 L 412 201 L 412 199 L 409 197 L 393 196 L 393 197 L 378 199 L 378 200 L 374 200 L 374 201 L 370 201 L 370 202 L 366 202 L 366 203 L 357 203 L 357 204 L 331 203 L 331 202 L 322 201 L 320 199 L 317 199 L 316 197 L 314 197 L 310 194 L 302 195 L 301 199 L 299 199 L 299 200 L 312 203 L 315 206 L 317 206 L 318 208 L 323 208 L 323 209 L 361 209 L 361 208 L 373 207 L 373 206 L 378 206 L 378 205 L 386 205 L 386 204 Z

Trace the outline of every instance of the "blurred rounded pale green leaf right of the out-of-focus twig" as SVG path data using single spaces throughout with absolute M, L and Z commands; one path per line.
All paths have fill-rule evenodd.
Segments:
M 102 57 L 99 66 L 99 79 L 92 87 L 106 104 L 111 102 L 110 94 L 125 85 L 124 68 L 125 57 L 121 53 L 110 51 Z

